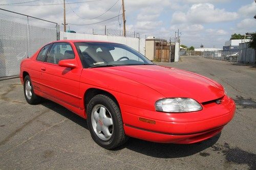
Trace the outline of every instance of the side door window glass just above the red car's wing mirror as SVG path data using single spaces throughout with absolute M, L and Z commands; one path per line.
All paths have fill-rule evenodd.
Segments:
M 66 42 L 58 42 L 52 45 L 50 53 L 48 55 L 47 62 L 58 64 L 60 60 L 67 60 L 67 59 L 74 59 L 74 58 L 75 58 L 75 55 L 71 45 Z

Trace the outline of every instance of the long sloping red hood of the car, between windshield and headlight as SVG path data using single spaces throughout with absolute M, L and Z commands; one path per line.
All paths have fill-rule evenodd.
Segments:
M 219 99 L 224 95 L 224 89 L 219 83 L 173 67 L 131 65 L 93 69 L 139 82 L 158 91 L 165 98 L 191 98 L 203 103 Z

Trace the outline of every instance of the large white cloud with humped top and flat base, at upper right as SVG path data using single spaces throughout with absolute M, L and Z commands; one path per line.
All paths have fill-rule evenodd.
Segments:
M 227 12 L 225 9 L 215 8 L 213 4 L 194 4 L 190 9 L 184 12 L 175 12 L 172 23 L 212 23 L 231 21 L 238 18 L 236 12 Z

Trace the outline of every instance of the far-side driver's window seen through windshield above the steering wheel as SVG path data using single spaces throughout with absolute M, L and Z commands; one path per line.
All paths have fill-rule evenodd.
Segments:
M 136 56 L 135 54 L 129 51 L 123 50 L 122 48 L 115 47 L 115 50 L 110 51 L 110 53 L 113 56 L 113 59 L 115 61 L 117 61 L 121 57 L 127 57 L 129 58 L 129 60 L 136 60 L 136 61 L 143 62 L 143 60 L 141 60 L 138 56 Z

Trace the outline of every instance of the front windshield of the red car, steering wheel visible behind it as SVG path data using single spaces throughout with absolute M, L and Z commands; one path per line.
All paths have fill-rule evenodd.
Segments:
M 75 46 L 84 68 L 154 64 L 127 45 L 104 42 L 76 42 Z

